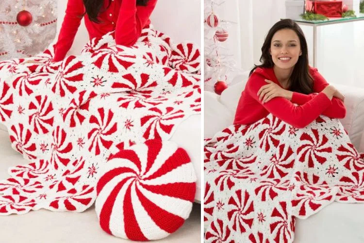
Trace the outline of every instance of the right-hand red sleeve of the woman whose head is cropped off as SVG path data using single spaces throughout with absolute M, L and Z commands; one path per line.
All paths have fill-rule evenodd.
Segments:
M 117 45 L 132 46 L 135 44 L 156 3 L 157 0 L 149 0 L 147 6 L 136 6 L 136 0 L 121 2 L 115 30 Z

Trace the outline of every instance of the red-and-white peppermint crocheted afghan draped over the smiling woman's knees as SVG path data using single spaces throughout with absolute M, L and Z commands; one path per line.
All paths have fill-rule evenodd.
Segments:
M 206 242 L 292 243 L 296 217 L 364 201 L 364 154 L 325 116 L 230 126 L 206 139 L 204 162 Z

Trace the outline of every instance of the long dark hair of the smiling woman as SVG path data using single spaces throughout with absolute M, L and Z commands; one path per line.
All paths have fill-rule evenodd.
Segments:
M 269 49 L 273 35 L 277 31 L 282 29 L 290 29 L 296 32 L 302 51 L 302 55 L 298 57 L 298 61 L 289 79 L 289 90 L 303 94 L 310 94 L 313 92 L 314 79 L 312 78 L 309 71 L 307 42 L 301 28 L 292 19 L 282 19 L 281 21 L 275 23 L 273 27 L 269 30 L 268 35 L 265 37 L 265 41 L 262 46 L 262 56 L 260 57 L 260 62 L 262 64 L 254 65 L 254 68 L 251 69 L 249 75 L 251 75 L 256 68 L 274 67 L 272 56 L 269 53 Z

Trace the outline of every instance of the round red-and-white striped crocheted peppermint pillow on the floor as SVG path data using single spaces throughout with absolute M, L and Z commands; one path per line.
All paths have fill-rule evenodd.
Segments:
M 189 156 L 174 142 L 152 139 L 121 150 L 100 172 L 100 226 L 134 241 L 164 238 L 188 218 L 196 180 Z

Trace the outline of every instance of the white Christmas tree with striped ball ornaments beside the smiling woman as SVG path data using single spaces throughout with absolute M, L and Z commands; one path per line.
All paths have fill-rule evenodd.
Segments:
M 225 0 L 204 0 L 204 89 L 218 94 L 229 85 L 228 74 L 236 69 L 233 55 L 224 47 L 232 24 L 219 17 L 224 3 Z

